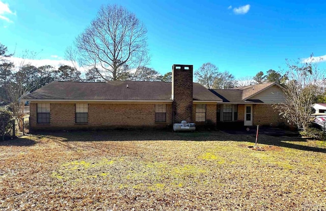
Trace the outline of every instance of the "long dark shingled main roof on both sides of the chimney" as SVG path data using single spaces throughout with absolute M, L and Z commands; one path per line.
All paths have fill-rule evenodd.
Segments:
M 128 85 L 128 88 L 127 88 Z M 117 100 L 117 101 L 172 101 L 171 82 L 109 81 L 63 82 L 53 81 L 33 93 L 25 100 Z M 194 83 L 193 98 L 197 101 L 220 101 L 204 86 Z

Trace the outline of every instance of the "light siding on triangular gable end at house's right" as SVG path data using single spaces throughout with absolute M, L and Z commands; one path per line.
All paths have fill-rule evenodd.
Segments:
M 274 85 L 249 99 L 250 100 L 261 100 L 264 103 L 269 103 L 269 104 L 284 103 L 285 95 L 280 87 L 278 87 L 277 85 Z

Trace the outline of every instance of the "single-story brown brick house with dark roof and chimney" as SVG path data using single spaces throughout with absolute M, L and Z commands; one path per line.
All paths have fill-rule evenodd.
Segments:
M 164 128 L 186 120 L 196 126 L 282 122 L 271 104 L 284 102 L 276 83 L 206 89 L 193 83 L 192 65 L 173 65 L 172 82 L 51 82 L 23 98 L 35 130 L 117 127 Z

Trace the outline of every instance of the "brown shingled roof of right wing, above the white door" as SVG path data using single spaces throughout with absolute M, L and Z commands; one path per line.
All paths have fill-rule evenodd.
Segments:
M 264 89 L 278 85 L 277 83 L 261 83 L 250 86 L 240 86 L 233 89 L 209 89 L 214 95 L 223 100 L 224 103 L 263 103 L 258 99 L 249 99 Z M 279 85 L 278 85 L 279 86 Z

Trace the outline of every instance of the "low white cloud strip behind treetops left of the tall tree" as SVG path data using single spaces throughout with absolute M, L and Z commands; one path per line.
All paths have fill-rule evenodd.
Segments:
M 55 68 L 59 68 L 61 65 L 69 65 L 71 67 L 74 67 L 72 62 L 67 61 L 65 59 L 57 59 L 57 60 L 53 60 L 53 59 L 23 59 L 20 57 L 10 57 L 8 59 L 11 62 L 13 62 L 16 67 L 19 67 L 21 65 L 33 65 L 35 67 L 50 65 Z M 86 72 L 85 68 L 82 68 L 79 66 L 77 66 L 76 68 L 82 73 Z

